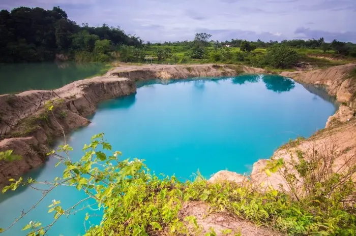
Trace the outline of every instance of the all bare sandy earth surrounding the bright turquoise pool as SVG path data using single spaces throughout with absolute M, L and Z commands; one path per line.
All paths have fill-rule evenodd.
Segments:
M 283 72 L 282 76 L 293 78 L 297 82 L 307 83 L 316 87 L 324 87 L 326 91 L 336 96 L 338 102 L 344 105 L 328 120 L 327 127 L 316 132 L 307 140 L 298 142 L 293 147 L 282 147 L 277 150 L 272 159 L 284 158 L 288 161 L 295 150 L 304 152 L 333 149 L 337 155 L 335 168 L 342 166 L 345 158 L 354 156 L 356 152 L 356 83 L 347 78 L 348 72 L 356 64 L 334 66 L 325 70 L 304 72 Z M 63 136 L 70 130 L 90 123 L 85 117 L 94 114 L 96 105 L 105 99 L 125 96 L 136 92 L 135 82 L 154 78 L 179 79 L 191 77 L 221 77 L 235 76 L 240 73 L 261 74 L 268 73 L 263 69 L 249 68 L 236 65 L 124 65 L 111 69 L 105 76 L 85 79 L 68 84 L 52 91 L 32 90 L 16 95 L 0 95 L 0 129 L 4 130 L 7 123 L 16 116 L 19 110 L 26 114 L 13 128 L 7 132 L 6 138 L 0 141 L 0 151 L 14 150 L 22 156 L 21 160 L 7 162 L 0 161 L 0 188 L 9 178 L 17 178 L 46 161 L 46 153 L 53 139 Z M 54 105 L 53 112 L 42 104 L 34 111 L 34 106 L 41 97 L 51 98 L 47 107 Z M 58 96 L 60 98 L 58 98 Z M 37 104 L 38 105 L 38 104 Z M 31 114 L 32 113 L 32 114 Z M 20 115 L 21 117 L 21 115 Z M 347 150 L 347 151 L 345 151 Z M 237 173 L 220 171 L 209 182 L 234 181 L 236 183 L 252 185 L 272 185 L 282 187 L 288 191 L 280 174 L 268 177 L 264 173 L 267 160 L 259 160 L 253 165 L 250 178 Z M 187 203 L 180 212 L 182 217 L 189 213 L 195 215 L 204 231 L 210 227 L 220 232 L 220 229 L 241 228 L 243 235 L 278 235 L 278 233 L 263 227 L 231 218 L 224 214 L 210 214 L 209 206 L 200 202 Z M 246 233 L 246 234 L 245 234 Z

